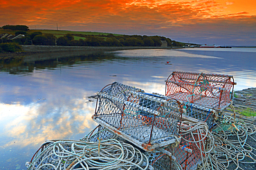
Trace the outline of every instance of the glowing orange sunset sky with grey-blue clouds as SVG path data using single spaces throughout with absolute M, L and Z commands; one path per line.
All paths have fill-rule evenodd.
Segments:
M 163 35 L 256 45 L 255 0 L 1 0 L 0 26 Z

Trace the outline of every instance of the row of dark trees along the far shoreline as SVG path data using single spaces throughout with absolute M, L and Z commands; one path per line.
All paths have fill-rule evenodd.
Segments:
M 22 26 L 22 27 L 21 27 Z M 172 41 L 164 36 L 141 36 L 141 35 L 119 35 L 100 34 L 100 35 L 86 35 L 86 34 L 65 34 L 64 36 L 56 37 L 54 34 L 43 34 L 42 32 L 26 32 L 24 26 L 26 25 L 5 25 L 3 29 L 17 29 L 15 35 L 24 34 L 21 39 L 5 39 L 1 43 L 16 42 L 19 45 L 63 45 L 63 46 L 107 46 L 107 47 L 124 47 L 124 46 L 147 46 L 160 47 L 162 41 L 167 42 L 168 47 L 183 46 L 183 43 Z M 26 26 L 27 27 L 27 26 Z M 11 30 L 10 29 L 10 30 Z M 24 29 L 24 30 L 22 30 Z M 28 28 L 27 28 L 28 29 Z M 79 36 L 81 39 L 75 40 L 74 36 Z

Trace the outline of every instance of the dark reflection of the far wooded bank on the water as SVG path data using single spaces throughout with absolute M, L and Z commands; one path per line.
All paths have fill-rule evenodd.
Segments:
M 44 57 L 45 55 L 45 57 Z M 95 61 L 105 61 L 113 59 L 113 55 L 104 53 L 88 54 L 82 56 L 59 56 L 55 54 L 48 56 L 49 54 L 41 54 L 37 58 L 37 54 L 30 54 L 28 56 L 19 56 L 12 59 L 1 59 L 0 60 L 0 72 L 8 72 L 9 74 L 28 74 L 35 70 L 52 70 L 56 67 L 74 67 L 74 65 L 80 62 L 87 61 L 92 63 Z M 48 58 L 42 60 L 42 58 Z

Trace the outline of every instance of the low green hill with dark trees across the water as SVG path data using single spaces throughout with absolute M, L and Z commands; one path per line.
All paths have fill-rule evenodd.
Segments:
M 12 26 L 12 25 L 10 25 Z M 6 29 L 6 28 L 5 28 Z M 9 29 L 9 28 L 8 28 Z M 20 45 L 64 45 L 64 46 L 149 46 L 161 47 L 165 41 L 168 47 L 182 47 L 184 43 L 172 41 L 164 36 L 143 36 L 112 34 L 107 32 L 82 32 L 68 30 L 4 30 L 0 28 L 0 34 L 15 35 L 25 34 L 22 39 L 15 39 Z M 37 32 L 37 33 L 35 33 Z M 35 34 L 34 34 L 35 33 Z M 3 43 L 10 43 L 10 39 L 2 39 Z M 164 45 L 165 45 L 164 44 Z

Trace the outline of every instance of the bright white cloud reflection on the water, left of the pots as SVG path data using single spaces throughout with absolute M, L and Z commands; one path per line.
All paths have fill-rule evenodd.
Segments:
M 62 100 L 59 105 L 50 100 L 30 105 L 1 104 L 1 121 L 8 122 L 2 130 L 6 137 L 12 138 L 11 141 L 1 140 L 1 147 L 17 143 L 26 147 L 50 139 L 86 134 L 97 125 L 91 120 L 94 104 L 84 103 L 83 98 Z

